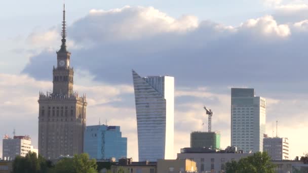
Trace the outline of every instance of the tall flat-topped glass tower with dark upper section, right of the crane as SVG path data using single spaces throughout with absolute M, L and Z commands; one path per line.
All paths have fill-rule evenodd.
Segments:
M 231 145 L 244 152 L 263 151 L 265 99 L 254 89 L 231 89 Z

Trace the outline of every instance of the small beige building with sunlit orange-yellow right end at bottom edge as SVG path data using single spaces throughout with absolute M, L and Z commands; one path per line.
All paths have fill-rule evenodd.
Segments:
M 197 164 L 189 159 L 158 160 L 157 172 L 197 172 Z

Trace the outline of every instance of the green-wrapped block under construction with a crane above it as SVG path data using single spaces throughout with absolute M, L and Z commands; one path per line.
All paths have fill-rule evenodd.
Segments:
M 220 149 L 220 133 L 192 132 L 190 133 L 190 148 Z

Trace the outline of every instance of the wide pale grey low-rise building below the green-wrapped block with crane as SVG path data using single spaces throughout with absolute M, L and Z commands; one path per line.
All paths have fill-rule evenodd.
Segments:
M 177 154 L 178 159 L 190 159 L 197 163 L 199 172 L 221 172 L 226 162 L 240 160 L 251 154 L 237 151 L 236 147 L 227 147 L 225 150 L 207 148 L 183 148 Z

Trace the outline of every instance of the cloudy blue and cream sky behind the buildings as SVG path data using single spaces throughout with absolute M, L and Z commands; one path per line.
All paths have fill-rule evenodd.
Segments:
M 266 98 L 266 133 L 306 151 L 308 1 L 65 1 L 74 90 L 87 94 L 87 124 L 120 125 L 138 160 L 132 72 L 175 77 L 175 147 L 207 124 L 230 145 L 230 88 Z M 52 90 L 63 1 L 0 7 L 0 134 L 37 147 L 38 93 Z M 2 142 L 0 147 L 2 148 Z M 2 151 L 0 150 L 0 157 Z

